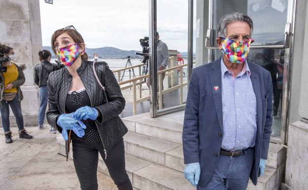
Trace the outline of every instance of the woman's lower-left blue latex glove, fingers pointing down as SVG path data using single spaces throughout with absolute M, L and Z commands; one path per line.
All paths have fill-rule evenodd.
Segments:
M 61 114 L 57 120 L 57 124 L 62 128 L 63 139 L 66 141 L 69 139 L 67 130 L 73 130 L 78 137 L 83 137 L 86 129 L 86 125 L 72 115 L 73 113 Z

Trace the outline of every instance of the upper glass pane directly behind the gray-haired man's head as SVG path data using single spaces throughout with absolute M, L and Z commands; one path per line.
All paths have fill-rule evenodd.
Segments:
M 242 12 L 254 23 L 252 45 L 283 45 L 287 6 L 288 0 L 214 0 L 213 29 L 223 15 Z

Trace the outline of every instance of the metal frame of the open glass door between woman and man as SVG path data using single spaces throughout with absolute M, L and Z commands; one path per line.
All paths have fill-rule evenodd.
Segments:
M 189 3 L 189 11 L 188 11 L 188 85 L 190 81 L 190 77 L 192 75 L 192 56 L 193 56 L 193 0 L 188 0 Z M 149 0 L 149 66 L 150 66 L 150 116 L 156 117 L 159 115 L 170 114 L 173 112 L 178 112 L 181 110 L 185 110 L 186 104 L 182 104 L 179 106 L 173 106 L 170 108 L 158 110 L 158 97 L 157 97 L 157 73 L 153 71 L 157 71 L 157 46 L 155 43 L 156 32 L 157 32 L 157 1 Z M 155 64 L 152 64 L 155 63 Z

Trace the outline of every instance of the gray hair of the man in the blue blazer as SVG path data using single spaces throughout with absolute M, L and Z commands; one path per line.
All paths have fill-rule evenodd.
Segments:
M 251 18 L 243 13 L 232 12 L 228 13 L 222 17 L 217 26 L 218 35 L 217 37 L 226 37 L 227 36 L 227 26 L 232 22 L 246 22 L 250 26 L 250 35 L 253 31 L 253 22 Z

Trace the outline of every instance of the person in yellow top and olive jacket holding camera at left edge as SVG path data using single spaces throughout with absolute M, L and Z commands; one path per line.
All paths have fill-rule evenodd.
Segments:
M 6 67 L 6 72 L 0 72 L 0 113 L 2 127 L 4 130 L 5 143 L 12 143 L 12 132 L 10 131 L 9 107 L 13 111 L 16 123 L 19 129 L 19 138 L 32 139 L 24 128 L 24 119 L 21 112 L 20 102 L 23 100 L 23 94 L 20 86 L 25 83 L 23 70 L 24 64 L 15 62 L 16 54 L 12 47 L 0 44 L 0 52 L 8 56 L 11 60 L 2 63 L 1 67 Z

